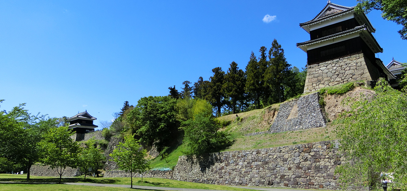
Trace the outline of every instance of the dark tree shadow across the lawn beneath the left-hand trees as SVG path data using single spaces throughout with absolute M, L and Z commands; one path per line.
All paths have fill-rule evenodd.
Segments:
M 66 182 L 88 182 L 88 183 L 98 183 L 98 184 L 114 184 L 118 182 L 119 180 L 115 179 L 86 179 L 83 180 L 83 178 L 62 178 L 61 183 L 66 183 Z M 15 182 L 15 183 L 58 183 L 59 178 L 31 178 L 30 180 L 27 180 L 25 178 L 0 178 L 0 182 Z

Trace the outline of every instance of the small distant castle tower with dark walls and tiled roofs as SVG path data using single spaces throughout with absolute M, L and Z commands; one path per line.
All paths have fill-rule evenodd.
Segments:
M 68 118 L 68 120 L 70 124 L 69 129 L 76 131 L 78 134 L 92 132 L 98 127 L 93 124 L 93 121 L 96 120 L 96 118 L 88 114 L 87 111 L 74 115 L 71 118 Z

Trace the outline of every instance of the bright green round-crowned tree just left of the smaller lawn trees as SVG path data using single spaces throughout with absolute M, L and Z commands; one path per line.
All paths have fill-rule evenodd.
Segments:
M 57 169 L 59 183 L 66 167 L 77 167 L 79 146 L 71 139 L 71 135 L 73 132 L 69 131 L 68 127 L 53 127 L 39 142 L 43 154 L 40 161 Z

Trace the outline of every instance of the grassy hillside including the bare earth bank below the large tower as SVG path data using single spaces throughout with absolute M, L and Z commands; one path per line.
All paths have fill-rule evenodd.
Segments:
M 374 91 L 369 88 L 355 87 L 360 86 L 358 83 L 360 82 L 350 82 L 321 90 L 321 92 L 326 92 L 320 99 L 326 111 L 326 127 L 244 136 L 247 133 L 269 130 L 273 120 L 276 118 L 280 104 L 239 113 L 237 116 L 236 114 L 231 114 L 217 118 L 224 125 L 219 131 L 226 131 L 231 134 L 232 139 L 235 139 L 234 144 L 223 151 L 270 148 L 337 139 L 335 127 L 340 123 L 340 120 L 336 119 L 342 112 L 349 109 L 349 106 L 344 104 L 344 101 L 348 98 L 361 95 L 374 95 Z M 182 155 L 182 151 L 185 149 L 186 145 L 182 144 L 171 152 L 166 160 L 163 160 L 161 156 L 155 158 L 151 166 L 153 168 L 166 167 L 171 169 L 177 164 L 178 157 Z

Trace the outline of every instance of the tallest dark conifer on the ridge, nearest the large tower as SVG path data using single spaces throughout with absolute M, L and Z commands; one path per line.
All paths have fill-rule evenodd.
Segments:
M 276 91 L 276 100 L 281 103 L 285 101 L 284 86 L 288 84 L 287 79 L 289 79 L 291 65 L 287 63 L 284 49 L 281 48 L 276 39 L 271 43 L 269 61 L 269 67 L 265 72 L 265 81 L 272 90 Z

